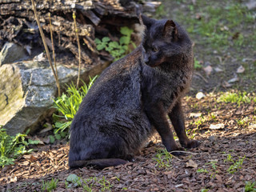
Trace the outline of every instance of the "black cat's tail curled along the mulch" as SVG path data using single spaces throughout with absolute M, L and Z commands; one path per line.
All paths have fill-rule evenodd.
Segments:
M 127 161 L 122 158 L 102 158 L 102 159 L 91 159 L 91 160 L 80 160 L 70 162 L 70 169 L 84 167 L 84 166 L 93 166 L 97 169 L 104 169 L 108 166 L 118 166 L 126 164 Z

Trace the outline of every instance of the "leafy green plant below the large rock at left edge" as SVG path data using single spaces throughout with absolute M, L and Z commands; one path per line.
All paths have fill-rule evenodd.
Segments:
M 22 154 L 27 154 L 32 151 L 26 150 L 26 147 L 30 144 L 38 144 L 38 141 L 25 140 L 26 134 L 16 134 L 16 136 L 10 136 L 6 134 L 6 130 L 0 127 L 0 166 L 7 166 L 14 164 L 15 158 Z

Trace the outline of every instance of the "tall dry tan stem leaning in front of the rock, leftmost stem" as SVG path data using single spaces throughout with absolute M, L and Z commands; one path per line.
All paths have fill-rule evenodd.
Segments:
M 58 78 L 57 78 L 57 75 L 56 75 L 56 73 L 55 73 L 55 71 L 54 71 L 53 63 L 51 62 L 51 59 L 50 59 L 50 53 L 49 53 L 49 50 L 48 50 L 48 46 L 46 45 L 45 34 L 43 34 L 43 32 L 42 32 L 42 27 L 41 27 L 40 22 L 39 22 L 39 19 L 38 19 L 38 13 L 37 13 L 37 10 L 36 10 L 35 5 L 34 5 L 34 0 L 31 0 L 31 2 L 32 2 L 33 10 L 34 10 L 35 20 L 36 20 L 37 23 L 38 23 L 38 29 L 39 29 L 40 34 L 41 34 L 43 46 L 45 47 L 46 55 L 47 55 L 47 58 L 48 58 L 48 60 L 49 60 L 49 62 L 50 62 L 51 70 L 52 70 L 53 73 L 54 73 L 54 78 L 55 78 L 55 80 L 56 80 L 56 84 L 57 84 L 58 90 L 60 90 L 60 86 L 59 86 L 59 83 L 58 83 Z

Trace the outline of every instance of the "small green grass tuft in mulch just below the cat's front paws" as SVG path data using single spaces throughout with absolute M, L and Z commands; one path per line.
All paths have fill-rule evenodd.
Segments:
M 155 158 L 153 158 L 153 160 L 157 162 L 155 166 L 158 166 L 159 168 L 165 167 L 166 169 L 168 169 L 170 168 L 170 166 L 172 166 L 172 158 L 172 154 L 170 154 L 166 149 L 164 149 L 158 150 L 158 153 L 155 155 Z

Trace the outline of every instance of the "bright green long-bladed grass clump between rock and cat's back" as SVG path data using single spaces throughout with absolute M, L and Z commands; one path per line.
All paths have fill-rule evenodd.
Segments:
M 74 115 L 77 113 L 78 107 L 82 102 L 82 98 L 86 96 L 88 90 L 90 90 L 90 87 L 94 84 L 96 78 L 97 76 L 90 78 L 89 85 L 87 86 L 86 83 L 84 83 L 84 85 L 79 89 L 76 89 L 74 83 L 71 83 L 70 86 L 67 86 L 66 94 L 63 93 L 61 97 L 54 99 L 53 107 L 62 114 L 54 114 L 54 117 L 65 119 L 65 121 L 55 122 L 54 126 L 57 130 L 54 131 L 54 134 L 57 134 L 58 130 L 64 131 L 70 127 Z

